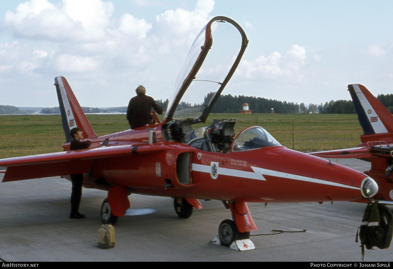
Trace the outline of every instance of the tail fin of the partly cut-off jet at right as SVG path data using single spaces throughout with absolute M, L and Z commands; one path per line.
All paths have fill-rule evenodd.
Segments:
M 365 135 L 393 132 L 393 115 L 365 86 L 350 84 L 348 90 Z

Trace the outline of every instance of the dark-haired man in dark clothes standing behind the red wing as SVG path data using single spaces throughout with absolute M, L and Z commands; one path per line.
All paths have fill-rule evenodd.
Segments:
M 72 141 L 70 143 L 70 150 L 82 150 L 90 146 L 90 141 L 81 141 L 83 139 L 83 132 L 81 128 L 75 127 L 70 130 Z M 79 213 L 79 204 L 82 197 L 82 181 L 83 174 L 74 174 L 71 176 L 72 192 L 71 192 L 71 219 L 83 219 L 84 214 Z

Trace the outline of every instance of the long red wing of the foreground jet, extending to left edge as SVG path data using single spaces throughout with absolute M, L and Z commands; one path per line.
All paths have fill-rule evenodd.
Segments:
M 0 167 L 7 167 L 2 182 L 88 173 L 97 159 L 154 154 L 171 148 L 163 143 L 135 143 L 1 159 Z

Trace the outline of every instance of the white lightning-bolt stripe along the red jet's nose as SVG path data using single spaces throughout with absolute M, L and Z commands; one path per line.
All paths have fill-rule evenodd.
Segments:
M 325 185 L 332 185 L 332 186 L 344 187 L 344 188 L 353 188 L 355 190 L 360 190 L 360 188 L 358 188 L 358 187 L 353 187 L 353 186 L 335 183 L 335 182 L 331 182 L 331 181 L 325 181 L 325 180 L 316 179 L 316 178 L 308 178 L 308 177 L 298 176 L 298 175 L 294 175 L 294 174 L 287 174 L 287 173 L 278 172 L 278 171 L 274 171 L 274 170 L 268 170 L 268 169 L 259 168 L 259 167 L 251 167 L 251 168 L 252 168 L 252 170 L 254 170 L 254 172 L 246 172 L 246 171 L 241 171 L 241 170 L 236 170 L 236 169 L 219 167 L 218 174 L 225 175 L 225 176 L 237 176 L 239 178 L 259 179 L 259 180 L 266 180 L 263 176 L 274 176 L 274 177 L 278 177 L 278 178 L 288 178 L 288 179 L 307 181 L 307 182 L 313 182 L 313 183 L 319 183 L 319 184 L 325 184 Z M 198 171 L 198 172 L 205 172 L 205 173 L 210 174 L 211 167 L 209 165 L 198 165 L 198 164 L 193 163 L 192 170 Z

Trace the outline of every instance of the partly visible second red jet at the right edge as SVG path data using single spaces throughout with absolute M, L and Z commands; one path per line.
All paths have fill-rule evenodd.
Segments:
M 356 148 L 311 152 L 325 158 L 357 158 L 371 162 L 364 173 L 379 187 L 375 199 L 393 201 L 393 115 L 369 90 L 360 84 L 348 85 L 353 104 L 363 129 L 361 143 Z

